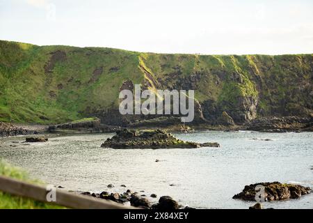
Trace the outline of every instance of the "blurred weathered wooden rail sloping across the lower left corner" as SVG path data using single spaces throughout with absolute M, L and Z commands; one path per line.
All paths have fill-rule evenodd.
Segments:
M 132 206 L 123 206 L 113 201 L 87 197 L 79 194 L 72 194 L 63 190 L 56 190 L 56 201 L 47 201 L 46 187 L 25 183 L 21 180 L 15 180 L 5 176 L 0 176 L 0 190 L 9 194 L 27 197 L 36 201 L 58 204 L 68 208 L 81 209 L 133 209 Z

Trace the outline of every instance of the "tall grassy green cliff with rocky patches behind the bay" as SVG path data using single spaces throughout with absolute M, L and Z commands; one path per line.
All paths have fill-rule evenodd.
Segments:
M 235 123 L 307 116 L 312 73 L 313 54 L 200 56 L 0 41 L 0 121 L 61 123 L 95 115 L 127 125 L 144 118 L 118 112 L 120 90 L 134 84 L 194 89 L 194 123 L 218 123 L 223 112 Z

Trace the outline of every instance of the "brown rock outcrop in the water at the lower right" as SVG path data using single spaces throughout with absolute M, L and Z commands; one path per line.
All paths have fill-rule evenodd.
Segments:
M 255 201 L 255 194 L 260 194 L 262 191 L 256 190 L 258 185 L 264 186 L 264 194 L 262 198 L 265 201 L 280 201 L 285 199 L 297 199 L 304 194 L 309 194 L 310 187 L 303 187 L 302 185 L 294 185 L 289 183 L 255 183 L 246 185 L 242 192 L 234 195 L 233 199 L 242 199 L 245 201 Z

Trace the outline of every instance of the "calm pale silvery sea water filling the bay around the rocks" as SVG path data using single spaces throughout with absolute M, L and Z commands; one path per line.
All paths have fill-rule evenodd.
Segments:
M 175 136 L 202 143 L 217 141 L 220 148 L 101 148 L 104 139 L 111 136 L 51 137 L 47 143 L 30 146 L 21 144 L 25 137 L 2 138 L 0 157 L 35 178 L 67 190 L 102 192 L 112 183 L 115 187 L 109 191 L 124 192 L 126 188 L 120 185 L 125 184 L 136 192 L 144 190 L 140 194 L 148 197 L 152 193 L 170 195 L 195 208 L 248 208 L 255 202 L 234 200 L 232 196 L 251 183 L 280 181 L 313 187 L 312 132 L 205 131 Z M 264 206 L 313 208 L 313 193 Z

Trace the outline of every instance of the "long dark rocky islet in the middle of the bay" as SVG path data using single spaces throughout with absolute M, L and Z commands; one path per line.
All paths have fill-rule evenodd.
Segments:
M 202 146 L 218 147 L 217 143 L 198 144 L 176 139 L 164 130 L 138 132 L 136 130 L 119 130 L 115 136 L 106 139 L 101 145 L 106 148 L 198 148 Z

